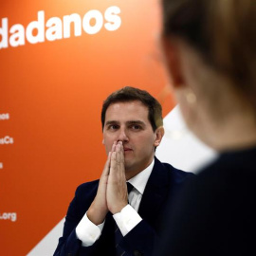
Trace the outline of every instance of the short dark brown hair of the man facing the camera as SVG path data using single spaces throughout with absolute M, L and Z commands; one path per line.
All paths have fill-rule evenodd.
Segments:
M 101 109 L 101 125 L 102 130 L 105 123 L 105 115 L 107 108 L 117 102 L 140 101 L 148 110 L 148 119 L 152 129 L 155 132 L 156 128 L 163 125 L 162 107 L 147 91 L 137 89 L 135 87 L 126 86 L 112 93 L 103 101 Z

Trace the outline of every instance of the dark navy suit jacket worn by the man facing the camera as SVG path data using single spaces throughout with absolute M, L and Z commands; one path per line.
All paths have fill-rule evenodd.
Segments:
M 159 223 L 166 206 L 171 203 L 174 194 L 181 188 L 184 181 L 192 175 L 177 170 L 170 164 L 161 163 L 155 158 L 155 165 L 138 209 L 138 214 L 143 220 L 119 243 L 119 246 L 126 251 L 125 255 L 152 254 Z M 82 247 L 81 241 L 76 237 L 75 229 L 95 198 L 98 185 L 99 180 L 84 183 L 78 187 L 65 217 L 63 237 L 60 238 L 54 255 L 116 255 L 115 220 L 111 212 L 106 216 L 100 239 L 93 246 Z

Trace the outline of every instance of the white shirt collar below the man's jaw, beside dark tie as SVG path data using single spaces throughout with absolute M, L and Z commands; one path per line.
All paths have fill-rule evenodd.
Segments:
M 130 178 L 128 182 L 130 182 L 138 192 L 143 194 L 145 187 L 147 185 L 150 174 L 152 173 L 153 167 L 155 164 L 155 158 L 153 158 L 152 163 L 143 171 L 141 171 L 136 176 Z

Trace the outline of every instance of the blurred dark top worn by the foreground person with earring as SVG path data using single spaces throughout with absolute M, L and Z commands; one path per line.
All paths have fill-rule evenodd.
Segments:
M 227 152 L 183 188 L 155 256 L 256 255 L 256 147 Z

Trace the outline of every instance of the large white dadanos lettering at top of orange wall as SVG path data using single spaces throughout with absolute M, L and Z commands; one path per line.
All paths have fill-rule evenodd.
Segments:
M 55 41 L 70 38 L 71 25 L 74 26 L 74 36 L 82 36 L 82 31 L 86 34 L 97 34 L 104 29 L 115 31 L 121 25 L 119 7 L 107 8 L 102 14 L 98 9 L 90 9 L 83 17 L 78 13 L 59 17 L 45 18 L 45 11 L 37 12 L 37 20 L 31 21 L 27 27 L 21 24 L 14 24 L 9 27 L 9 19 L 3 18 L 0 27 L 0 49 L 9 46 L 25 46 L 26 40 L 29 44 L 44 43 L 45 41 Z

